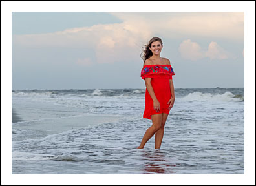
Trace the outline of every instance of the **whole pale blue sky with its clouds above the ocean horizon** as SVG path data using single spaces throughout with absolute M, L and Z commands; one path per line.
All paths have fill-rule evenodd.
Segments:
M 175 88 L 244 87 L 244 12 L 12 12 L 12 90 L 145 88 L 155 36 Z

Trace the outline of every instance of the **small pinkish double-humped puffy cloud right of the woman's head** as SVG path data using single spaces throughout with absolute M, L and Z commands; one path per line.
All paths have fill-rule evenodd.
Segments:
M 224 48 L 220 47 L 216 42 L 209 43 L 208 50 L 204 51 L 200 45 L 196 42 L 192 42 L 191 39 L 184 40 L 180 43 L 178 48 L 180 55 L 184 59 L 190 59 L 196 61 L 204 57 L 213 59 L 228 59 L 233 57 L 232 54 Z

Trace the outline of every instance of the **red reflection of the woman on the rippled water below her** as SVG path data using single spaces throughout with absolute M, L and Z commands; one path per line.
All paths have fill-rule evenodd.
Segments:
M 143 154 L 145 162 L 144 174 L 174 174 L 175 171 L 171 170 L 171 167 L 175 167 L 171 162 L 167 161 L 164 152 L 160 149 L 155 152 L 144 152 Z

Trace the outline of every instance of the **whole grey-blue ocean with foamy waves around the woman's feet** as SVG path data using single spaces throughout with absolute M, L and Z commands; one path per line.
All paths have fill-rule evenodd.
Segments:
M 12 174 L 244 174 L 244 88 L 176 88 L 161 149 L 144 89 L 12 90 Z

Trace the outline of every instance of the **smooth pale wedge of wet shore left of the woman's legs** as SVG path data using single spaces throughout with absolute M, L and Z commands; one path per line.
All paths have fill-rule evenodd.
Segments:
M 16 130 L 32 131 L 32 135 L 26 134 L 23 137 L 41 138 L 50 134 L 58 134 L 68 130 L 93 127 L 103 123 L 116 122 L 122 119 L 122 116 L 115 116 L 113 114 L 78 114 L 78 112 L 69 112 L 67 110 L 60 111 L 61 108 L 56 105 L 55 108 L 58 108 L 56 110 L 54 110 L 53 107 L 49 109 L 44 108 L 43 105 L 40 106 L 40 109 L 37 109 L 37 107 L 12 108 L 12 129 L 14 130 L 12 132 L 16 132 Z M 62 110 L 64 109 L 62 108 Z M 17 123 L 19 121 L 26 122 Z

